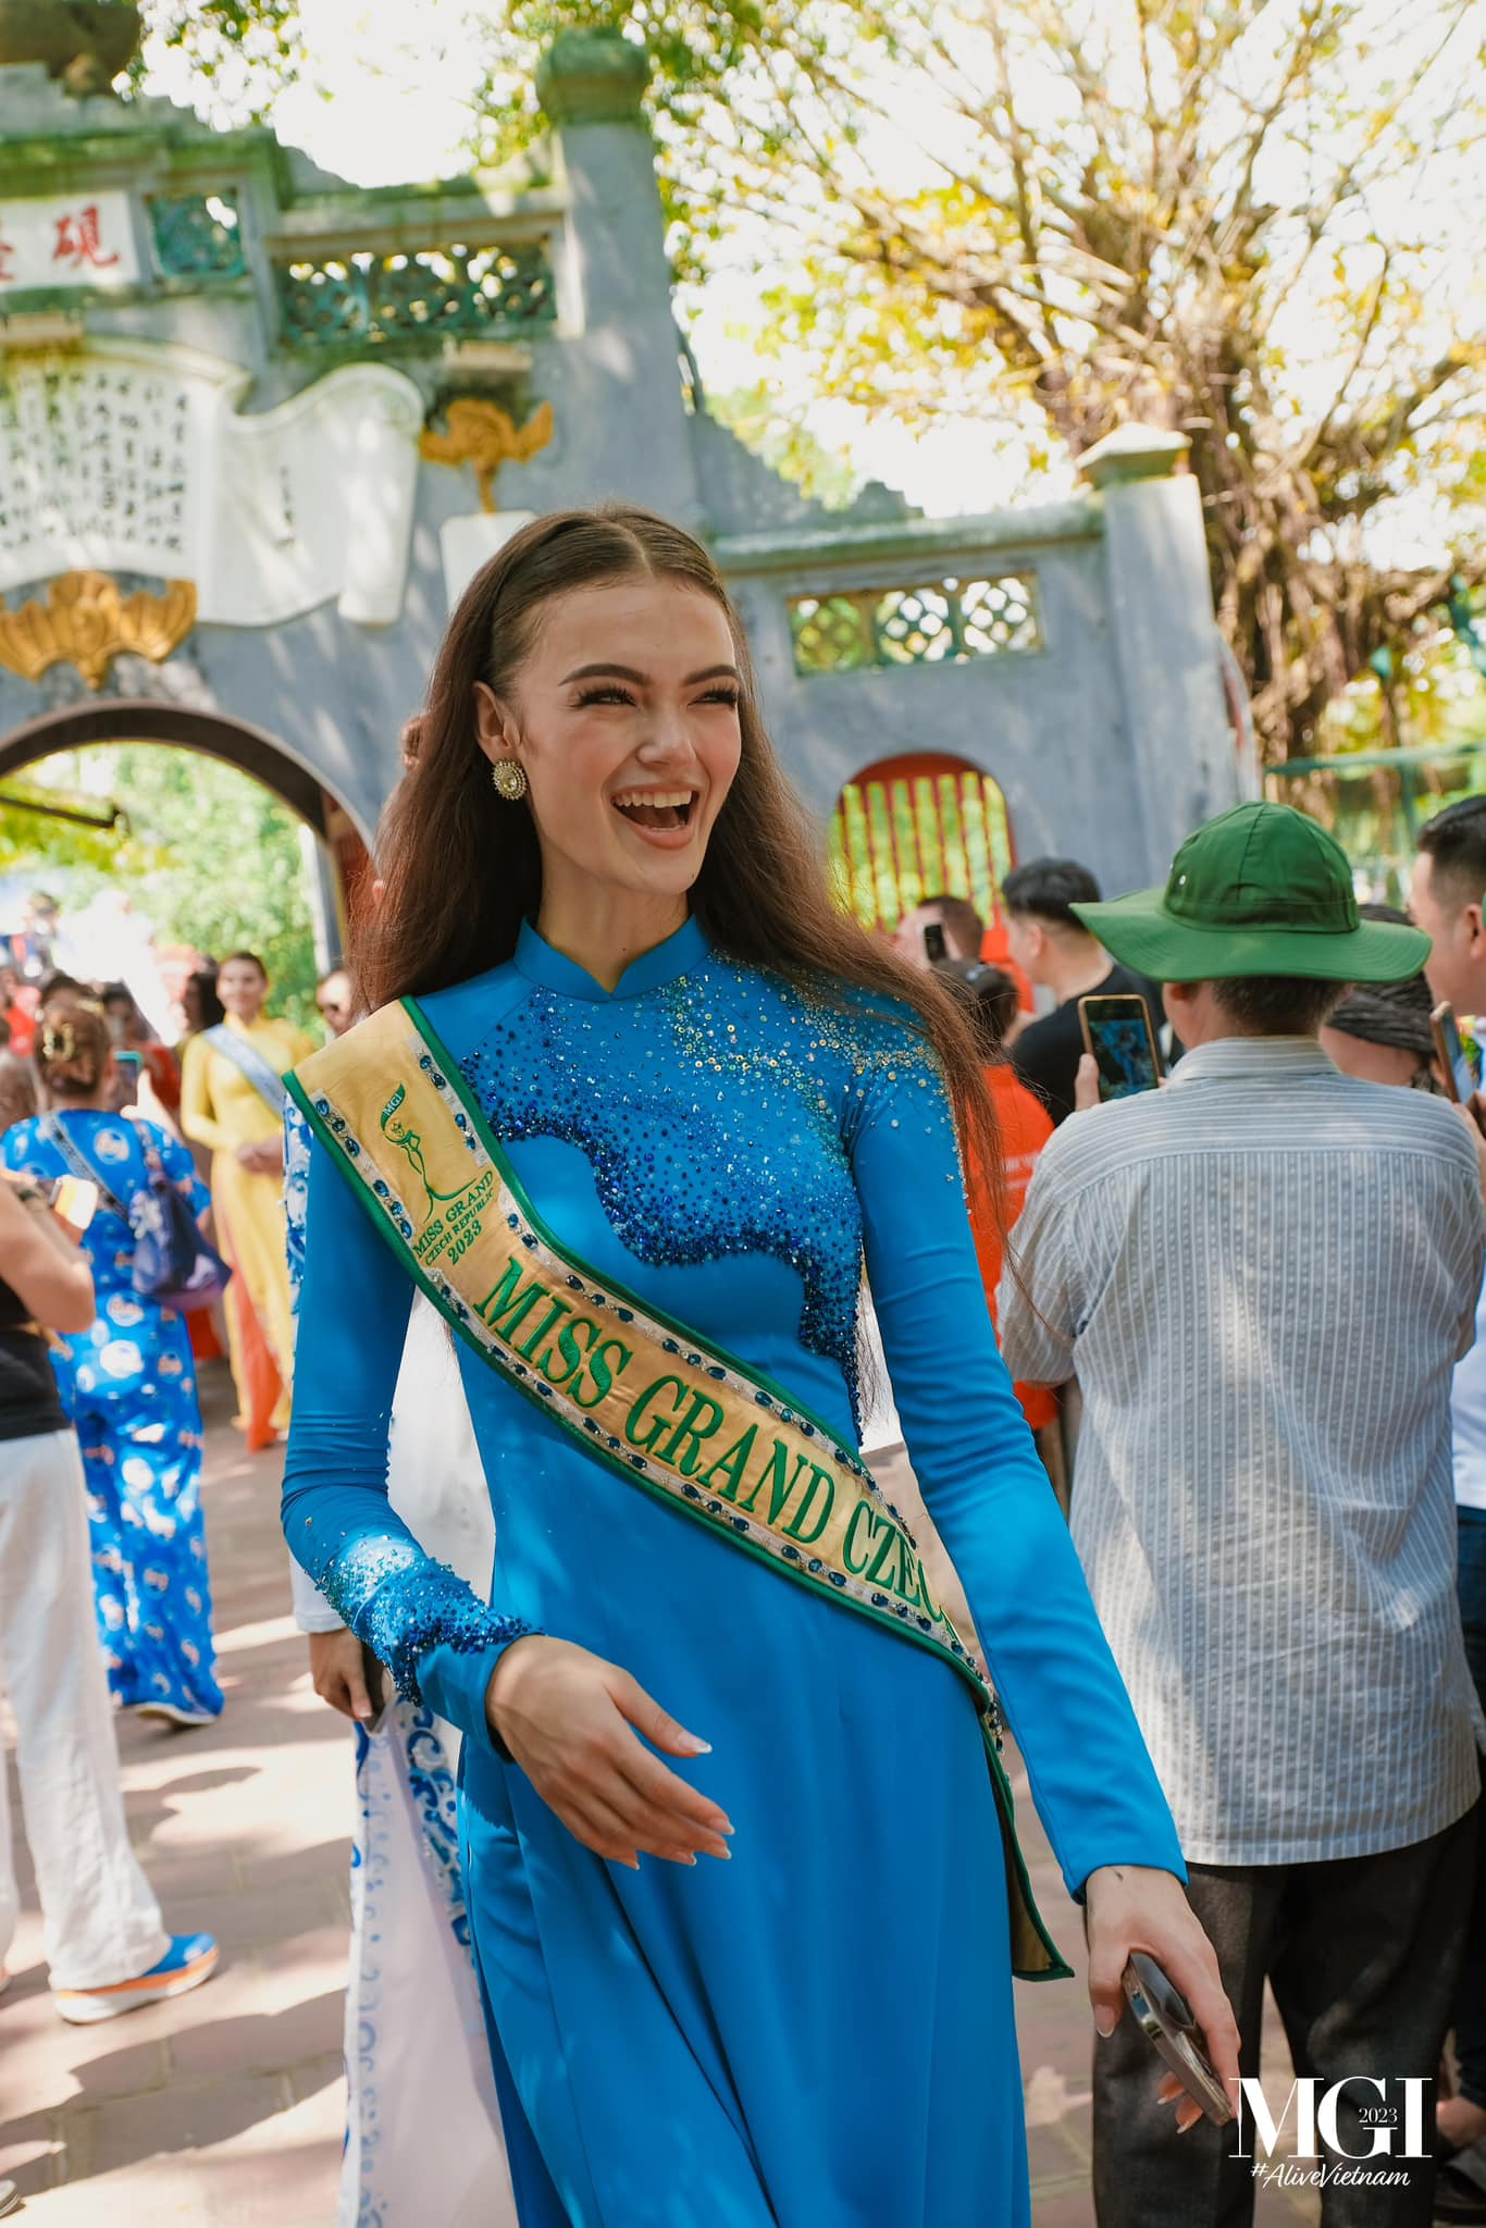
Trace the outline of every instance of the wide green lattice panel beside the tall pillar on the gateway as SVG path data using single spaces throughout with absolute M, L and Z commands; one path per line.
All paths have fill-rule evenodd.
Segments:
M 557 316 L 544 243 L 276 263 L 283 336 L 296 345 L 397 345 L 530 330 Z

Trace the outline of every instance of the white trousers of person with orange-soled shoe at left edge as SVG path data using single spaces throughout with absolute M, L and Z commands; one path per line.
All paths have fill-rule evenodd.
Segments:
M 125 1831 L 114 1704 L 94 1622 L 82 1457 L 71 1430 L 0 1439 L 0 1689 L 53 1987 L 149 1972 L 169 1936 Z M 0 1965 L 20 1894 L 0 1756 Z

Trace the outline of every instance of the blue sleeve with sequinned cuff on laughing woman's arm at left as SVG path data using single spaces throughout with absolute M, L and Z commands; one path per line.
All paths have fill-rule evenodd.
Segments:
M 388 1502 L 392 1388 L 412 1286 L 350 1183 L 310 1152 L 283 1531 L 336 1615 L 466 1738 L 492 1747 L 486 1687 L 530 1626 L 499 1618 Z

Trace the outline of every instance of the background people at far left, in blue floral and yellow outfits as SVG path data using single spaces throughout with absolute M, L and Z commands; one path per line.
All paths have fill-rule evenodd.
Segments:
M 287 1428 L 278 1078 L 312 1040 L 265 1018 L 267 974 L 238 951 L 189 974 L 165 1043 L 125 983 L 47 965 L 53 900 L 29 918 L 47 940 L 11 940 L 0 971 L 0 1680 L 53 2001 L 91 2023 L 216 1965 L 209 1936 L 165 1932 L 129 1851 L 114 1711 L 174 1729 L 223 1711 L 198 1366 L 225 1328 L 247 1446 Z M 196 1292 L 160 1268 L 172 1196 L 216 1263 Z M 16 1918 L 7 1816 L 0 1987 Z

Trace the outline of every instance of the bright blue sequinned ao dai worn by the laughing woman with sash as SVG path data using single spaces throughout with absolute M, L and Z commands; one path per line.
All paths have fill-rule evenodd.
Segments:
M 942 1083 L 856 991 L 688 922 L 602 989 L 530 927 L 426 1000 L 537 1212 L 856 1444 L 862 1259 L 925 1502 L 1069 1889 L 1181 1849 L 996 1352 Z M 408 1283 L 316 1147 L 285 1533 L 463 1731 L 466 1892 L 524 2228 L 1023 2228 L 1000 1834 L 962 1680 L 593 1464 L 461 1348 L 492 1606 L 385 1499 Z M 499 1618 L 713 1753 L 731 1863 L 584 1849 L 499 1758 Z M 408 2036 L 417 2048 L 417 2036 Z

